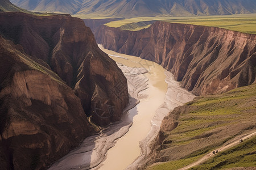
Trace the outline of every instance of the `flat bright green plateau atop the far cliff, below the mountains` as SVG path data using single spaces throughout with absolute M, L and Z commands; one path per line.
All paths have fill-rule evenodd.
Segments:
M 139 22 L 162 20 L 170 23 L 184 23 L 205 25 L 210 27 L 226 28 L 233 31 L 256 34 L 256 14 L 220 15 L 220 16 L 196 16 L 196 17 L 144 17 L 131 18 L 107 23 L 109 27 L 119 27 L 123 30 L 138 31 L 149 27 Z

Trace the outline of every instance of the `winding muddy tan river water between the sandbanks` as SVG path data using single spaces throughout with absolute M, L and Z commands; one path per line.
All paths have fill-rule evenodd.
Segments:
M 144 74 L 145 78 L 148 79 L 148 88 L 140 92 L 139 98 L 141 102 L 137 107 L 129 111 L 130 117 L 126 117 L 133 118 L 133 126 L 122 138 L 118 139 L 114 147 L 110 148 L 106 160 L 100 168 L 104 170 L 125 169 L 141 154 L 139 142 L 147 137 L 151 129 L 150 121 L 154 117 L 155 111 L 164 103 L 164 97 L 167 92 L 165 70 L 154 62 L 115 53 L 102 48 L 101 45 L 99 46 L 116 62 L 134 67 L 134 71 L 136 71 L 137 67 L 144 67 L 148 70 L 148 73 Z

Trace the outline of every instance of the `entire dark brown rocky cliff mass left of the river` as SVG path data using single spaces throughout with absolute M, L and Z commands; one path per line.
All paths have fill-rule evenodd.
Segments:
M 46 169 L 119 121 L 127 83 L 84 22 L 0 13 L 0 169 Z M 86 116 L 87 114 L 87 116 Z

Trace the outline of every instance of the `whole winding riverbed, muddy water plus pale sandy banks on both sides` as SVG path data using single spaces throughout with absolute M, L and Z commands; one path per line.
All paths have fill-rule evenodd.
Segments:
M 135 169 L 150 153 L 149 144 L 156 137 L 164 116 L 195 97 L 181 88 L 162 66 L 99 47 L 125 74 L 131 96 L 129 105 L 118 124 L 84 139 L 50 170 Z

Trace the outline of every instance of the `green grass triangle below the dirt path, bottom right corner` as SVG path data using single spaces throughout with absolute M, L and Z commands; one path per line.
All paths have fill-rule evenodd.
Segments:
M 218 153 L 207 162 L 192 169 L 228 169 L 234 167 L 256 167 L 256 137 Z

